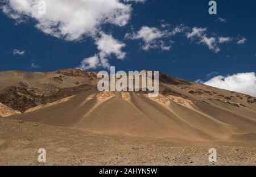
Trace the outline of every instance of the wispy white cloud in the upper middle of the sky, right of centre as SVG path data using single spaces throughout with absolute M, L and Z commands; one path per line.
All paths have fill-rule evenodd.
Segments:
M 163 27 L 163 25 L 162 25 Z M 166 27 L 166 26 L 164 26 Z M 174 36 L 177 33 L 183 32 L 185 27 L 181 24 L 180 26 L 175 27 L 174 29 L 160 29 L 156 27 L 143 26 L 139 31 L 133 33 L 126 33 L 125 39 L 143 41 L 142 49 L 147 51 L 149 49 L 160 48 L 162 50 L 170 50 L 171 45 L 166 45 L 162 40 L 163 38 Z

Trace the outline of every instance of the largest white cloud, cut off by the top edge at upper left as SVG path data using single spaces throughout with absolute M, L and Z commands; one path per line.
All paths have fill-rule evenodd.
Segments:
M 102 24 L 121 27 L 130 19 L 130 5 L 118 0 L 45 1 L 46 15 L 38 13 L 38 0 L 5 0 L 1 9 L 18 23 L 29 17 L 44 33 L 71 41 L 95 35 Z

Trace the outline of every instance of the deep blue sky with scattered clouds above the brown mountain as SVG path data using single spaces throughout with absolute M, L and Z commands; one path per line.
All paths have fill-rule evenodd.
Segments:
M 1 5 L 1 71 L 75 68 L 90 57 L 95 57 L 90 61 L 97 64 L 88 67 L 88 62 L 85 62 L 88 70 L 105 70 L 106 65 L 100 61 L 104 58 L 116 70 L 159 70 L 190 81 L 208 81 L 216 75 L 256 70 L 256 2 L 253 0 L 216 1 L 217 15 L 209 15 L 209 1 L 206 0 L 113 0 L 116 6 L 102 7 L 110 9 L 104 14 L 107 20 L 98 22 L 95 27 L 87 27 L 90 20 L 101 18 L 102 14 L 96 14 L 95 18 L 77 26 L 85 27 L 84 31 L 82 28 L 81 31 L 72 29 L 72 24 L 61 29 L 52 25 L 35 27 L 44 23 L 44 17 L 33 15 L 26 6 L 24 9 L 19 6 L 19 9 L 17 2 L 3 1 Z M 52 3 L 46 5 L 46 12 L 51 13 L 48 6 Z M 101 11 L 98 5 L 90 8 L 96 8 L 92 11 L 94 15 Z M 122 11 L 123 20 L 112 16 L 111 11 L 116 9 Z M 61 7 L 55 7 L 54 14 L 61 16 L 61 11 Z M 56 22 L 69 23 L 67 16 L 63 15 L 63 19 L 59 16 L 57 20 L 54 18 Z M 45 18 L 51 21 L 51 16 Z M 72 18 L 69 20 L 74 22 L 80 16 Z M 179 32 L 174 34 L 176 27 Z M 53 28 L 59 32 L 49 32 Z M 148 35 L 143 36 L 145 33 L 141 29 Z M 203 32 L 200 33 L 199 29 Z M 189 34 L 192 37 L 188 37 Z M 107 44 L 117 47 L 109 49 Z

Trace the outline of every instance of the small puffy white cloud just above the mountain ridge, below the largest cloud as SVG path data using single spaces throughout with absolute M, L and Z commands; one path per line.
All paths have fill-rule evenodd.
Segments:
M 101 32 L 100 37 L 96 37 L 95 44 L 97 45 L 99 53 L 95 54 L 93 57 L 84 58 L 79 66 L 80 69 L 88 70 L 99 67 L 109 69 L 108 57 L 110 55 L 113 54 L 120 60 L 123 60 L 126 56 L 126 53 L 122 52 L 122 48 L 125 47 L 125 44 L 114 39 L 112 35 Z

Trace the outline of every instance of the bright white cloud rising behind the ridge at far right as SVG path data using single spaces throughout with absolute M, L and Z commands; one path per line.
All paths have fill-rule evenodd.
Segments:
M 205 85 L 222 88 L 225 90 L 237 91 L 243 94 L 256 96 L 256 75 L 255 73 L 238 73 L 229 76 L 218 75 L 204 82 Z

